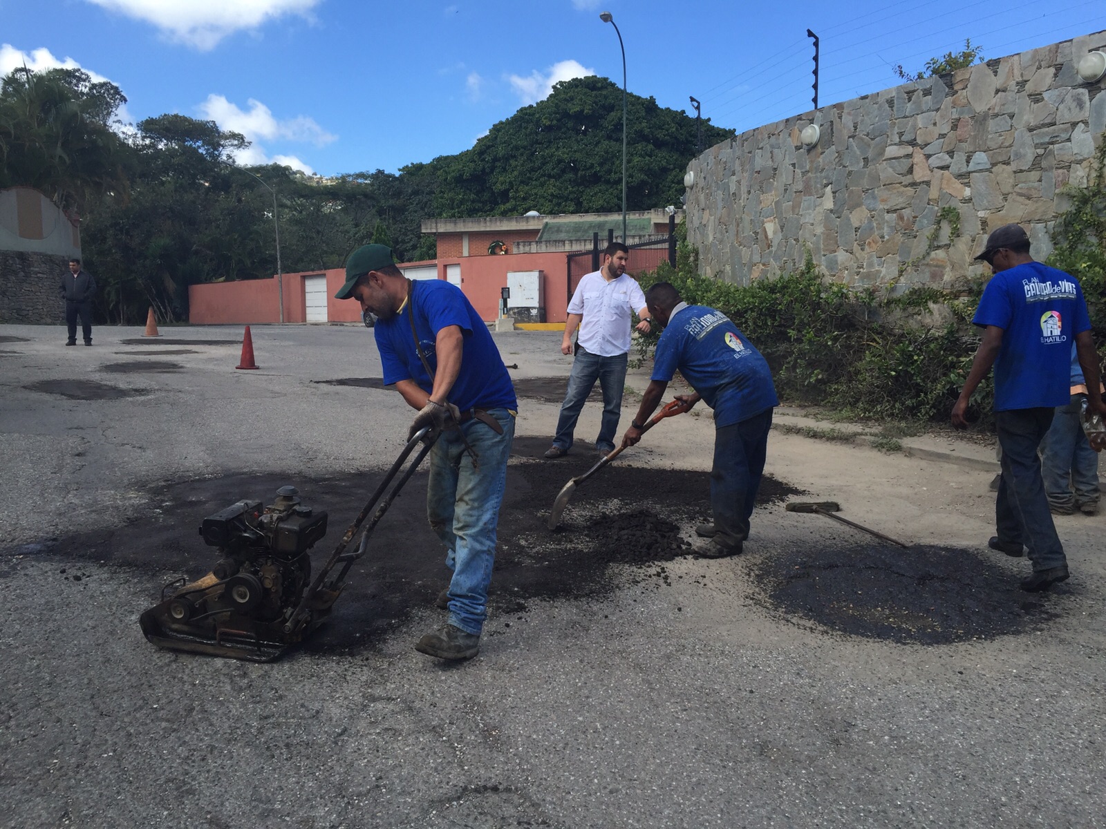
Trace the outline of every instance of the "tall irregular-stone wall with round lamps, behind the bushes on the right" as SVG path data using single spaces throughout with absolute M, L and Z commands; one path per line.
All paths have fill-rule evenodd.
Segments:
M 1087 182 L 1103 139 L 1106 78 L 1083 83 L 1075 67 L 1104 46 L 1106 32 L 1054 43 L 711 147 L 688 167 L 700 271 L 748 284 L 800 267 L 810 250 L 847 284 L 951 286 L 990 273 L 972 256 L 1008 222 L 1044 259 L 1064 186 Z M 820 137 L 806 148 L 811 124 Z M 956 238 L 946 208 L 959 213 Z

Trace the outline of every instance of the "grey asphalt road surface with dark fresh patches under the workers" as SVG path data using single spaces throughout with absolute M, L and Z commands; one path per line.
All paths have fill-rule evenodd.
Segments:
M 204 516 L 291 483 L 325 555 L 413 412 L 362 327 L 254 327 L 257 371 L 239 327 L 139 334 L 0 326 L 0 826 L 1106 826 L 1103 517 L 1057 520 L 1073 578 L 1029 596 L 982 546 L 989 474 L 773 433 L 745 554 L 699 558 L 697 411 L 550 533 L 601 407 L 542 461 L 561 335 L 495 334 L 521 399 L 479 657 L 413 648 L 447 576 L 422 474 L 304 647 L 165 651 L 138 616 L 213 563 Z

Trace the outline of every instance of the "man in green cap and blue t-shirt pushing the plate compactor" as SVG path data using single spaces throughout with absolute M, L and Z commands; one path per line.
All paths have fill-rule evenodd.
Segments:
M 507 483 L 518 402 L 488 326 L 461 290 L 448 282 L 411 282 L 392 250 L 366 244 L 346 260 L 335 295 L 356 298 L 378 317 L 374 333 L 384 384 L 418 410 L 408 440 L 424 427 L 437 436 L 430 451 L 427 514 L 453 571 L 439 606 L 449 622 L 416 650 L 439 659 L 469 659 L 480 650 L 495 528 Z

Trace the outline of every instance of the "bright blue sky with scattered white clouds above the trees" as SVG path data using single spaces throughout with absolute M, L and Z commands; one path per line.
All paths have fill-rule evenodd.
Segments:
M 1106 29 L 1100 0 L 0 0 L 0 71 L 79 65 L 138 120 L 167 112 L 247 135 L 243 164 L 324 176 L 471 147 L 555 80 L 629 91 L 739 130 L 894 86 L 964 38 L 999 57 Z M 633 125 L 630 125 L 633 129 Z

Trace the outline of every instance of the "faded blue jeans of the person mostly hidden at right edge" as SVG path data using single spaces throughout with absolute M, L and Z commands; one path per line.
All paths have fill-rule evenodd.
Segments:
M 1081 417 L 1086 399 L 1086 395 L 1072 395 L 1067 406 L 1057 406 L 1052 426 L 1041 441 L 1044 494 L 1053 506 L 1098 503 L 1098 453 L 1091 448 Z

